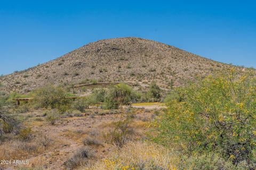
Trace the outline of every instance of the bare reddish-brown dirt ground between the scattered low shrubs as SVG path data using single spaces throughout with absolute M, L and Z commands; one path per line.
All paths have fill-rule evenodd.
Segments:
M 154 109 L 156 107 L 153 107 Z M 141 137 L 146 132 L 145 124 L 154 115 L 152 110 L 145 107 L 133 108 L 135 115 L 133 128 L 136 134 Z M 127 109 L 127 108 L 126 108 Z M 103 110 L 102 110 L 103 111 Z M 100 112 L 102 112 L 100 111 Z M 97 111 L 99 112 L 99 111 Z M 127 112 L 125 108 L 118 114 L 95 115 L 95 109 L 79 115 L 78 117 L 61 118 L 55 125 L 50 124 L 42 117 L 42 112 L 26 113 L 23 116 L 30 116 L 28 126 L 35 133 L 35 136 L 46 137 L 51 140 L 51 147 L 43 150 L 40 154 L 31 153 L 26 160 L 29 160 L 28 167 L 43 169 L 66 169 L 65 162 L 71 158 L 79 148 L 84 147 L 83 139 L 95 138 L 102 142 L 101 146 L 92 147 L 95 158 L 105 158 L 113 149 L 113 145 L 108 143 L 103 137 L 111 129 L 114 122 L 123 120 Z M 42 118 L 42 120 L 37 121 Z M 16 169 L 18 166 L 4 166 L 5 169 Z M 2 170 L 2 169 L 1 169 Z

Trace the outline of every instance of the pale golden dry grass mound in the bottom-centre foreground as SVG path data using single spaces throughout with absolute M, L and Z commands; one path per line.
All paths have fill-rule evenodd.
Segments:
M 129 142 L 122 149 L 115 148 L 109 153 L 108 158 L 79 169 L 89 170 L 114 170 L 114 169 L 177 169 L 175 164 L 179 157 L 166 148 L 148 142 Z

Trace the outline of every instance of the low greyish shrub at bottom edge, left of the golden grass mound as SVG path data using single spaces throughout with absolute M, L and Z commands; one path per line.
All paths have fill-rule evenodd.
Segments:
M 69 158 L 64 165 L 67 169 L 75 169 L 79 166 L 85 165 L 89 159 L 93 157 L 93 153 L 88 148 L 82 148 L 77 151 L 77 153 Z

